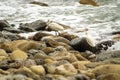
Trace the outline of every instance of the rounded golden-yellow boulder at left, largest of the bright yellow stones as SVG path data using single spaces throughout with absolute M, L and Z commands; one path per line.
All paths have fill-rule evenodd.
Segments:
M 10 58 L 12 60 L 26 60 L 28 58 L 27 53 L 21 51 L 21 50 L 14 50 L 10 54 Z

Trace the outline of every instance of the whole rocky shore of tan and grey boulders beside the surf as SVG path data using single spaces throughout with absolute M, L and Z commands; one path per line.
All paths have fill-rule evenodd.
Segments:
M 0 20 L 0 80 L 120 79 L 120 50 L 106 51 L 115 40 L 94 44 L 89 37 L 64 32 L 70 26 L 49 20 L 14 26 Z M 20 35 L 30 32 L 36 33 Z

